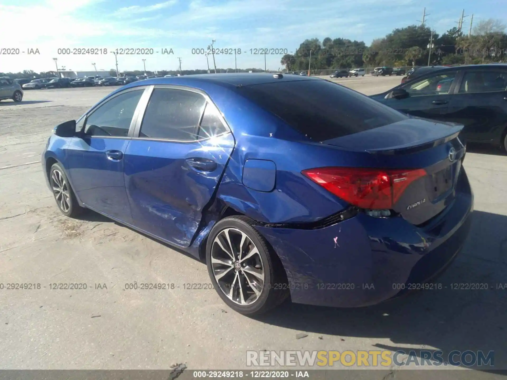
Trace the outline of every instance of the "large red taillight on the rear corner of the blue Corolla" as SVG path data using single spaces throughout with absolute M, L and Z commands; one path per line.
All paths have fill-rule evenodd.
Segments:
M 316 168 L 302 173 L 344 201 L 364 209 L 392 209 L 424 169 Z

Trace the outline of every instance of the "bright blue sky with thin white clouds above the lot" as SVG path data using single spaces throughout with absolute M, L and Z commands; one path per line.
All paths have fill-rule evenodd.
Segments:
M 120 71 L 205 69 L 206 58 L 193 55 L 192 48 L 241 49 L 240 68 L 264 68 L 264 56 L 249 49 L 282 48 L 295 51 L 305 40 L 344 37 L 370 44 L 393 28 L 416 24 L 426 7 L 426 24 L 437 32 L 456 26 L 465 9 L 464 28 L 470 15 L 474 23 L 488 18 L 507 21 L 507 2 L 483 0 L 0 0 L 2 48 L 39 49 L 40 55 L 0 55 L 0 71 L 33 69 L 46 71 L 58 66 L 93 70 L 115 67 L 111 53 L 62 55 L 59 48 L 162 48 L 173 55 L 118 56 Z M 8 36 L 6 38 L 6 36 Z M 210 66 L 212 67 L 212 59 Z M 281 55 L 268 55 L 268 69 L 278 69 Z M 234 67 L 234 54 L 215 56 L 217 67 Z

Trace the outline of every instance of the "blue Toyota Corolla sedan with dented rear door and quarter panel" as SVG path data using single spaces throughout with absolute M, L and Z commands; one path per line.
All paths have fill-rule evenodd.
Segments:
M 361 307 L 431 282 L 467 237 L 462 126 L 408 117 L 326 80 L 155 78 L 54 128 L 61 212 L 94 210 L 207 264 L 245 315 Z

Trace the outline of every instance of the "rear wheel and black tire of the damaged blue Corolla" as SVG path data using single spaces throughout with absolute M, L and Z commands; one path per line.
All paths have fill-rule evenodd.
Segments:
M 220 220 L 206 243 L 209 277 L 234 311 L 259 315 L 288 296 L 286 278 L 275 252 L 246 216 Z

